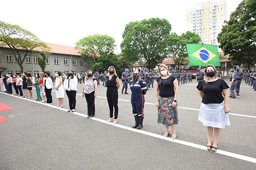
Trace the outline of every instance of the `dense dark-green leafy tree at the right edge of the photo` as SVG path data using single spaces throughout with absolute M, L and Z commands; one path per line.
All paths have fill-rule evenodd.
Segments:
M 217 39 L 233 65 L 256 62 L 256 0 L 243 0 L 225 20 Z

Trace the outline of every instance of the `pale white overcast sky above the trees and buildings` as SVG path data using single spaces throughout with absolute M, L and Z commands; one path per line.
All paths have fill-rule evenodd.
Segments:
M 221 0 L 212 0 L 218 2 Z M 242 0 L 227 2 L 227 20 Z M 171 32 L 186 32 L 185 12 L 205 0 L 2 0 L 0 20 L 18 25 L 46 43 L 74 47 L 83 37 L 102 34 L 116 40 L 126 24 L 165 18 Z

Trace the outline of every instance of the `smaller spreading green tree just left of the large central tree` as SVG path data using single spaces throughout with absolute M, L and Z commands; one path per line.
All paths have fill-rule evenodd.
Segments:
M 91 61 L 92 69 L 99 70 L 102 68 L 102 57 L 113 53 L 115 47 L 115 39 L 108 35 L 95 34 L 93 36 L 87 36 L 80 39 L 75 48 L 82 54 L 81 61 Z

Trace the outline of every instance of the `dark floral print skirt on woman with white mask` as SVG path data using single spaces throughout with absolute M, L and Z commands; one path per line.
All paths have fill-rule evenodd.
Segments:
M 173 126 L 178 124 L 177 106 L 172 108 L 174 97 L 161 97 L 159 96 L 159 108 L 157 122 L 165 126 Z M 177 103 L 178 105 L 178 103 Z

